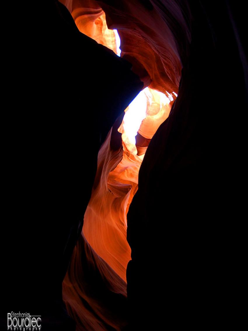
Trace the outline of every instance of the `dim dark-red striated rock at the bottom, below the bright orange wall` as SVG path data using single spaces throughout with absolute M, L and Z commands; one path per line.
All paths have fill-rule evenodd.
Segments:
M 77 330 L 122 330 L 127 325 L 126 283 L 80 236 L 63 281 L 63 299 Z

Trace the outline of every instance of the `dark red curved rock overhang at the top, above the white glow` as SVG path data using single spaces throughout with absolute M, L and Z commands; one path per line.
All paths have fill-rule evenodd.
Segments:
M 122 56 L 127 56 L 129 61 L 133 57 L 144 66 L 152 80 L 151 88 L 163 93 L 177 92 L 182 53 L 185 54 L 190 41 L 187 4 L 138 0 L 111 3 L 63 0 L 62 3 L 71 11 L 80 31 L 84 33 L 96 19 L 95 12 L 100 12 L 102 8 L 108 28 L 118 29 Z M 89 33 L 93 37 L 92 32 Z

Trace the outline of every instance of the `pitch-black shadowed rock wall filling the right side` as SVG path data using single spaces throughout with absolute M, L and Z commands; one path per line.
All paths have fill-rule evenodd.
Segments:
M 231 141 L 239 140 L 233 108 L 247 109 L 244 50 L 236 47 L 242 26 L 233 21 L 240 13 L 227 2 L 189 4 L 192 41 L 178 98 L 150 141 L 127 215 L 134 330 L 237 327 L 242 310 L 233 292 L 243 273 L 240 156 Z M 243 91 L 237 98 L 233 82 Z

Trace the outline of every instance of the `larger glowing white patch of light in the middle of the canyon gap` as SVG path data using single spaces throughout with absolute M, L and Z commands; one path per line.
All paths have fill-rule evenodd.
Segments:
M 142 120 L 146 117 L 148 87 L 144 88 L 137 97 L 130 103 L 128 110 L 123 118 L 123 127 L 129 141 L 135 145 L 135 136 L 140 128 Z

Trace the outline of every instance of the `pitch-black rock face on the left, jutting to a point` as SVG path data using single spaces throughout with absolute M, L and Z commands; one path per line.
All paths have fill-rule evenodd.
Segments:
M 18 43 L 9 46 L 18 47 L 7 94 L 12 110 L 3 116 L 8 256 L 16 272 L 7 275 L 3 315 L 5 325 L 7 312 L 29 311 L 43 317 L 44 330 L 68 330 L 62 280 L 81 235 L 98 151 L 143 83 L 127 61 L 80 33 L 62 4 L 38 9 L 39 24 L 23 15 L 25 34 L 16 33 Z M 7 257 L 6 270 L 9 263 Z

